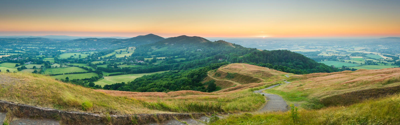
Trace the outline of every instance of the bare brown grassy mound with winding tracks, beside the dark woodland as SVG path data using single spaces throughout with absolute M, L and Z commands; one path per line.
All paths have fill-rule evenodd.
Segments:
M 288 73 L 270 70 L 266 67 L 233 63 L 222 66 L 217 70 L 209 71 L 208 77 L 203 80 L 203 83 L 214 80 L 215 84 L 223 89 L 218 92 L 224 92 L 258 87 L 273 81 L 280 81 L 286 78 L 283 76 L 286 74 Z

